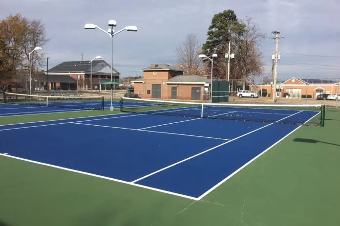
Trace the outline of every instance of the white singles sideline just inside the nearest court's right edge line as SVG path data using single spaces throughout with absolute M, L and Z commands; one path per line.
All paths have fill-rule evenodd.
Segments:
M 302 112 L 302 111 L 300 111 L 300 112 Z M 297 112 L 297 113 L 300 113 L 300 112 Z M 297 113 L 295 113 L 295 114 L 297 114 Z M 281 120 L 283 120 L 283 119 L 286 119 L 286 118 L 288 118 L 288 117 L 291 117 L 291 116 L 293 116 L 293 115 L 295 115 L 295 114 L 292 114 L 292 115 L 290 115 L 290 116 L 287 116 L 287 117 L 285 117 L 285 118 L 282 118 L 282 119 L 280 119 L 280 120 L 277 120 L 276 122 L 279 122 L 279 121 L 281 121 Z M 143 176 L 143 177 L 141 177 L 141 178 L 138 178 L 138 179 L 132 181 L 131 183 L 136 183 L 136 182 L 138 182 L 138 181 L 140 181 L 140 180 L 143 180 L 143 179 L 145 179 L 145 178 L 147 178 L 147 177 L 149 177 L 149 176 L 152 176 L 152 175 L 154 175 L 154 174 L 156 174 L 156 173 L 158 173 L 158 172 L 161 172 L 161 171 L 163 171 L 163 170 L 165 170 L 165 169 L 169 169 L 169 168 L 171 168 L 171 167 L 173 167 L 173 166 L 176 166 L 176 165 L 178 165 L 178 164 L 180 164 L 180 163 L 182 163 L 182 162 L 188 161 L 188 160 L 190 160 L 190 159 L 192 159 L 192 158 L 194 158 L 194 157 L 197 157 L 197 156 L 199 156 L 199 155 L 201 155 L 201 154 L 204 154 L 204 153 L 206 153 L 206 152 L 212 151 L 212 150 L 214 150 L 214 149 L 216 149 L 216 148 L 218 148 L 218 147 L 221 147 L 221 146 L 223 146 L 223 145 L 225 145 L 225 144 L 228 144 L 228 143 L 230 143 L 230 142 L 233 142 L 234 140 L 237 140 L 237 139 L 239 139 L 239 138 L 241 138 L 241 137 L 243 137 L 243 136 L 249 135 L 249 134 L 251 134 L 251 133 L 253 133 L 253 132 L 259 131 L 259 130 L 261 130 L 261 129 L 263 129 L 263 128 L 266 128 L 266 127 L 268 127 L 268 126 L 270 126 L 270 125 L 273 125 L 273 124 L 274 124 L 274 123 L 270 123 L 270 124 L 268 124 L 268 125 L 265 125 L 265 126 L 263 126 L 263 127 L 260 127 L 260 128 L 258 128 L 258 129 L 256 129 L 256 130 L 251 131 L 251 132 L 247 132 L 247 133 L 245 133 L 245 134 L 243 134 L 243 135 L 240 135 L 240 136 L 238 136 L 238 137 L 236 137 L 236 138 L 234 138 L 234 139 L 232 139 L 232 140 L 229 140 L 229 141 L 224 142 L 224 143 L 222 143 L 222 144 L 220 144 L 220 145 L 217 145 L 217 146 L 215 146 L 215 147 L 212 147 L 211 149 L 208 149 L 208 150 L 206 150 L 206 151 L 202 151 L 202 152 L 200 152 L 200 153 L 198 153 L 198 154 L 192 155 L 191 157 L 186 158 L 186 159 L 183 159 L 183 160 L 181 160 L 181 161 L 178 161 L 178 162 L 176 162 L 176 163 L 174 163 L 174 164 L 171 164 L 170 166 L 164 167 L 164 168 L 162 168 L 162 169 L 158 169 L 157 171 L 154 171 L 154 172 L 152 172 L 152 173 L 149 173 L 148 175 L 145 175 L 145 176 Z

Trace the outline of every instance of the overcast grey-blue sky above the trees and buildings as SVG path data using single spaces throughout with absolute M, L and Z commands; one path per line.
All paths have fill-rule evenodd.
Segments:
M 204 43 L 213 15 L 232 9 L 238 19 L 252 18 L 267 35 L 260 47 L 263 76 L 270 73 L 275 52 L 271 32 L 279 31 L 284 38 L 278 78 L 340 78 L 339 0 L 0 0 L 0 5 L 0 19 L 20 13 L 43 21 L 50 68 L 82 55 L 83 60 L 100 55 L 110 63 L 109 36 L 84 25 L 107 30 L 114 19 L 116 31 L 135 25 L 138 32 L 114 36 L 113 67 L 121 77 L 142 75 L 140 69 L 152 63 L 175 63 L 174 50 L 188 34 Z

